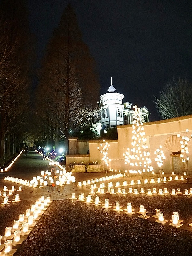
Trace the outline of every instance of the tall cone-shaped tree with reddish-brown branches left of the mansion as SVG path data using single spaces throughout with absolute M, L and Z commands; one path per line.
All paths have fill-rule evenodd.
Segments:
M 56 144 L 59 134 L 65 137 L 68 151 L 70 131 L 90 118 L 99 96 L 95 63 L 82 42 L 71 4 L 49 41 L 37 96 L 41 106 L 38 114 L 55 127 Z

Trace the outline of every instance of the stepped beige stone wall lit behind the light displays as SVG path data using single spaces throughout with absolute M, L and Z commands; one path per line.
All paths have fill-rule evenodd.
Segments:
M 149 122 L 144 123 L 144 132 L 146 133 L 147 138 L 147 144 L 150 151 L 150 158 L 152 160 L 152 166 L 154 168 L 155 172 L 158 172 L 158 166 L 156 162 L 154 161 L 154 158 L 156 157 L 154 154 L 154 151 L 156 151 L 157 148 L 159 148 L 160 145 L 162 145 L 162 149 L 164 151 L 164 155 L 166 156 L 166 159 L 163 163 L 163 170 L 166 173 L 171 173 L 173 171 L 173 161 L 177 164 L 177 170 L 179 171 L 182 167 L 182 161 L 180 158 L 173 159 L 170 155 L 172 154 L 171 151 L 167 150 L 164 146 L 165 141 L 172 135 L 177 135 L 178 133 L 181 136 L 186 136 L 185 130 L 188 128 L 188 137 L 192 134 L 192 115 L 189 116 L 183 116 L 178 118 L 172 118 L 168 120 L 162 120 L 162 121 L 156 121 L 156 122 Z M 114 170 L 121 169 L 121 170 L 128 170 L 128 166 L 124 164 L 124 157 L 123 153 L 126 151 L 127 147 L 131 148 L 131 142 L 132 142 L 132 125 L 122 125 L 117 126 L 118 129 L 118 140 L 105 140 L 105 142 L 108 142 L 110 144 L 110 148 L 108 150 L 108 157 L 111 158 L 111 164 L 110 168 L 113 168 Z M 100 161 L 102 159 L 102 155 L 100 151 L 97 149 L 99 146 L 99 149 L 101 150 L 100 143 L 103 143 L 102 140 L 90 140 L 89 141 L 89 155 L 68 155 L 66 157 L 66 167 L 69 163 L 72 163 L 74 161 L 81 162 L 84 161 L 86 163 L 92 162 L 92 161 Z M 189 170 L 192 170 L 192 139 L 188 143 L 188 150 L 189 150 L 189 157 L 190 161 L 188 161 Z M 104 166 L 102 165 L 102 169 Z M 182 172 L 184 169 L 182 169 Z

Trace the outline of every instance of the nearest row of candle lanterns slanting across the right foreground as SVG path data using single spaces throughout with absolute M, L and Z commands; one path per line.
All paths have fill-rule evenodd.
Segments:
M 75 193 L 72 193 L 71 198 L 72 200 L 77 199 L 75 197 Z M 127 203 L 127 208 L 126 209 L 122 209 L 123 206 L 120 206 L 119 201 L 116 201 L 116 205 L 115 206 L 111 206 L 112 204 L 109 204 L 109 199 L 105 198 L 105 203 L 102 204 L 102 202 L 100 201 L 99 196 L 95 197 L 95 200 L 92 199 L 91 195 L 88 195 L 86 197 L 86 201 L 84 198 L 84 193 L 81 193 L 79 195 L 79 198 L 77 199 L 77 201 L 79 202 L 84 202 L 86 204 L 92 204 L 94 206 L 99 206 L 99 205 L 103 205 L 102 208 L 105 209 L 110 209 L 110 208 L 114 208 L 113 211 L 116 212 L 122 212 L 125 211 L 125 214 L 128 215 L 133 215 L 135 213 L 139 214 L 139 218 L 141 219 L 148 219 L 151 216 L 147 215 L 148 212 L 146 212 L 146 209 L 144 208 L 144 205 L 140 205 L 140 210 L 138 212 L 135 212 L 135 209 L 132 209 L 132 204 L 131 203 Z M 162 212 L 160 212 L 160 209 L 156 208 L 155 209 L 156 214 L 152 215 L 153 218 L 156 218 L 158 220 L 155 220 L 155 222 L 161 223 L 161 224 L 165 224 L 168 222 L 168 220 L 164 220 L 164 215 Z M 181 224 L 183 222 L 183 220 L 179 219 L 179 213 L 178 212 L 173 212 L 172 215 L 172 220 L 170 220 L 171 223 L 169 223 L 169 225 L 174 226 L 176 228 L 179 228 L 180 226 L 182 226 L 183 224 Z M 192 223 L 189 224 L 190 227 L 192 227 Z

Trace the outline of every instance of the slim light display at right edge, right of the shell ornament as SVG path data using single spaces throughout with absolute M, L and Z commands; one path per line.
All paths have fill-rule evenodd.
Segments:
M 187 134 L 189 132 L 189 129 L 186 129 L 185 132 L 186 132 L 186 136 L 181 137 L 180 134 L 177 134 L 177 137 L 182 138 L 182 140 L 180 141 L 181 148 L 182 148 L 180 157 L 182 158 L 182 162 L 184 164 L 184 169 L 185 169 L 184 175 L 186 176 L 186 180 L 187 180 L 187 183 L 188 183 L 188 161 L 189 161 L 188 143 L 192 138 L 192 134 L 191 134 L 191 137 L 189 138 L 188 134 Z

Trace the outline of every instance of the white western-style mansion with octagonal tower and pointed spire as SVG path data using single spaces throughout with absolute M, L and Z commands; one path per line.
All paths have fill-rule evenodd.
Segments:
M 117 125 L 132 124 L 134 115 L 132 103 L 122 102 L 124 94 L 116 91 L 112 85 L 112 80 L 111 86 L 105 94 L 100 96 L 100 99 L 98 101 L 100 111 L 92 117 L 91 123 L 97 123 L 98 128 L 102 130 L 108 130 Z M 140 108 L 143 123 L 149 122 L 149 114 L 150 112 L 146 107 Z

